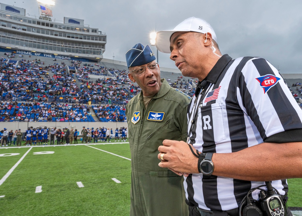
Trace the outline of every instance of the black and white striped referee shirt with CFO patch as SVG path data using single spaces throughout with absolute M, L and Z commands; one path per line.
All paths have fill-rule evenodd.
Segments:
M 223 55 L 209 72 L 203 94 L 189 134 L 189 142 L 200 152 L 230 153 L 262 142 L 302 140 L 302 111 L 278 70 L 263 58 L 232 60 Z M 188 107 L 188 130 L 195 98 Z M 230 210 L 239 207 L 248 190 L 264 184 L 190 174 L 184 188 L 186 198 L 201 209 Z M 273 181 L 272 186 L 281 195 L 287 194 L 285 179 Z M 253 198 L 258 199 L 257 193 L 254 191 Z

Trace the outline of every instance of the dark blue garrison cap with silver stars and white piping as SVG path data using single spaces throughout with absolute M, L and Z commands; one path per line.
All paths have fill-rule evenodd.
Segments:
M 147 45 L 144 47 L 141 43 L 135 44 L 135 46 L 126 53 L 128 68 L 148 64 L 155 59 L 154 52 L 150 46 Z

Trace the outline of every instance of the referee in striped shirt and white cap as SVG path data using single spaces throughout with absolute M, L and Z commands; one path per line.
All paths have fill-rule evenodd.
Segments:
M 278 70 L 260 57 L 222 55 L 213 28 L 194 17 L 157 32 L 156 46 L 199 80 L 189 144 L 164 140 L 158 148 L 159 166 L 185 176 L 190 215 L 237 216 L 264 181 L 286 196 L 285 178 L 302 177 L 302 111 Z

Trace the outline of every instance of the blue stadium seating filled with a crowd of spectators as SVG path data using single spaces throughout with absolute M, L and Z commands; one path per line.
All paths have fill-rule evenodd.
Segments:
M 125 65 L 0 55 L 0 121 L 123 122 L 125 105 L 141 90 Z M 197 79 L 167 71 L 161 77 L 193 96 Z M 286 81 L 299 102 L 302 79 Z

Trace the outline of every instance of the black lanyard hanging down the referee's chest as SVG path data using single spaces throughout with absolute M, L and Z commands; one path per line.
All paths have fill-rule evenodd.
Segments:
M 206 93 L 204 94 L 203 92 L 204 92 L 204 90 L 205 90 L 205 88 L 206 88 L 207 85 L 208 85 L 207 81 L 206 81 L 206 80 L 203 80 L 203 81 L 200 83 L 200 86 L 198 87 L 198 88 L 201 88 L 201 92 L 198 93 L 197 96 L 196 96 L 196 94 L 195 94 L 194 105 L 193 105 L 192 110 L 191 110 L 190 115 L 189 115 L 189 119 L 191 119 L 191 116 L 192 116 L 192 114 L 193 114 L 193 109 L 195 108 L 195 109 L 194 109 L 193 119 L 191 120 L 190 131 L 189 131 L 189 133 L 188 133 L 187 143 L 189 143 L 190 134 L 191 134 L 192 129 L 193 129 L 193 126 L 194 126 L 194 124 L 195 124 L 195 122 L 196 122 L 196 117 L 197 117 L 197 113 L 198 113 L 198 108 L 202 106 L 202 104 L 203 104 L 203 99 L 204 99 L 204 97 L 206 96 L 206 94 L 208 93 L 209 89 L 211 88 L 212 83 L 210 83 L 210 85 L 207 87 Z M 198 90 L 197 90 L 198 88 L 196 88 L 196 93 L 197 93 L 197 91 L 198 91 Z M 201 95 L 201 99 L 200 99 L 198 105 L 196 106 L 196 103 L 197 103 L 197 101 L 198 101 L 199 95 Z M 198 107 L 198 108 L 197 108 L 197 107 Z

